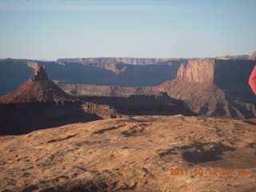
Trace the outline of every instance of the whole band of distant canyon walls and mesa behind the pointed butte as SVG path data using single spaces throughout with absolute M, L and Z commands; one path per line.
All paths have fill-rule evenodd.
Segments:
M 50 79 L 67 94 L 129 97 L 166 92 L 199 115 L 255 118 L 255 95 L 248 85 L 256 65 L 254 56 L 255 52 L 218 58 L 66 58 L 57 62 L 9 58 L 0 61 L 5 72 L 0 77 L 0 94 L 22 85 L 38 66 L 46 66 Z

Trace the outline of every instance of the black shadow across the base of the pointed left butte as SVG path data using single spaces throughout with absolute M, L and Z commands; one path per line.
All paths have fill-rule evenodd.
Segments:
M 28 102 L 0 105 L 0 135 L 28 134 L 34 130 L 102 119 L 86 113 L 80 102 Z

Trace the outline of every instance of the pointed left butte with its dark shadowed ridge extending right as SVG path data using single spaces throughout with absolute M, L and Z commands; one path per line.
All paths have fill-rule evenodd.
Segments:
M 40 66 L 32 78 L 0 98 L 0 135 L 129 115 L 197 115 L 166 93 L 129 98 L 74 97 L 47 78 Z

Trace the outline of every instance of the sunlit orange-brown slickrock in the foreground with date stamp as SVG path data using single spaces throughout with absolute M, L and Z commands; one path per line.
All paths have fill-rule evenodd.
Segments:
M 5 192 L 256 191 L 255 119 L 130 116 L 3 136 L 0 143 Z M 171 168 L 179 173 L 170 175 Z

